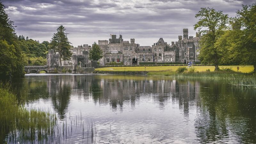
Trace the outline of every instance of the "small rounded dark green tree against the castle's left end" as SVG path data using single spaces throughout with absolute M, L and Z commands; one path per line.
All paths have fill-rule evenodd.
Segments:
M 92 49 L 89 51 L 89 59 L 90 60 L 100 60 L 103 57 L 103 51 L 100 49 L 100 46 L 93 43 Z

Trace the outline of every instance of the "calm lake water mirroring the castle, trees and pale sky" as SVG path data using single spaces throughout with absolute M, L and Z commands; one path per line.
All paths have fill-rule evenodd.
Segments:
M 255 89 L 146 75 L 28 74 L 15 85 L 26 107 L 73 121 L 61 143 L 256 143 Z

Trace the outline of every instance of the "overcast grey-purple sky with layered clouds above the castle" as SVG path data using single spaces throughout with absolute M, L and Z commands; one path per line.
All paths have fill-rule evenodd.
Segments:
M 74 45 L 108 40 L 110 33 L 141 46 L 152 45 L 163 37 L 171 43 L 188 28 L 195 36 L 195 14 L 201 7 L 215 8 L 235 16 L 242 4 L 254 0 L 2 0 L 17 35 L 50 41 L 58 26 L 67 30 Z

